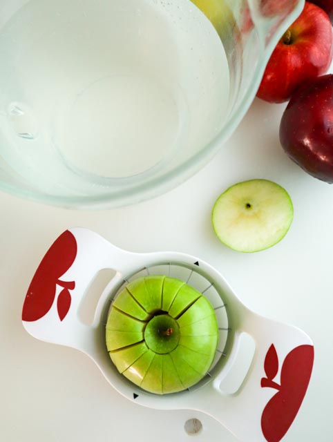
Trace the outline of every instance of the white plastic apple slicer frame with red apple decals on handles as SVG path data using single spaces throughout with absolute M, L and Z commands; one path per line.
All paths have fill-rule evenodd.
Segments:
M 115 276 L 99 297 L 93 323 L 79 309 L 97 273 Z M 188 390 L 151 394 L 117 372 L 105 343 L 108 311 L 135 278 L 165 275 L 200 291 L 216 311 L 219 343 L 207 375 Z M 130 401 L 159 410 L 198 410 L 222 423 L 240 441 L 278 442 L 292 425 L 310 382 L 314 347 L 296 327 L 259 316 L 240 302 L 216 269 L 177 252 L 132 253 L 93 231 L 74 228 L 55 240 L 32 278 L 22 311 L 23 327 L 37 339 L 74 347 L 90 356 L 107 381 Z M 225 389 L 244 334 L 255 351 L 236 392 Z

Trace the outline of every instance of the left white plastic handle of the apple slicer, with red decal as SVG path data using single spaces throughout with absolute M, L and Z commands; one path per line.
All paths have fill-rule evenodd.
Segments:
M 32 278 L 22 321 L 35 338 L 84 350 L 93 327 L 78 317 L 82 298 L 102 269 L 126 274 L 137 255 L 119 249 L 93 231 L 64 231 L 52 244 Z

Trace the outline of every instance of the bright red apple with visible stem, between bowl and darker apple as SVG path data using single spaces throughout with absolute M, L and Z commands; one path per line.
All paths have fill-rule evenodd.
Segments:
M 324 10 L 305 2 L 274 49 L 266 66 L 257 97 L 271 103 L 287 101 L 305 81 L 324 74 L 333 55 L 333 31 Z

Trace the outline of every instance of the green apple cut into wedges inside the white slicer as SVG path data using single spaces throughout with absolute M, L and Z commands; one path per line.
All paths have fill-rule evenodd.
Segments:
M 218 345 L 211 304 L 184 281 L 144 276 L 113 301 L 106 347 L 117 370 L 155 394 L 186 390 L 202 379 Z

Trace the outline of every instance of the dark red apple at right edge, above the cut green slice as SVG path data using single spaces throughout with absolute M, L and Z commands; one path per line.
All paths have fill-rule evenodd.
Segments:
M 333 182 L 333 75 L 295 91 L 280 122 L 280 143 L 307 173 Z

